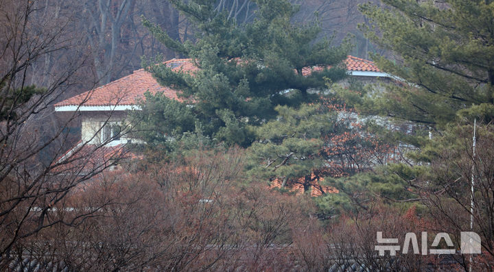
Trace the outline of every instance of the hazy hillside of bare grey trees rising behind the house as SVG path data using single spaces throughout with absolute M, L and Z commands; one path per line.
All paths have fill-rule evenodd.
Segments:
M 354 55 L 363 58 L 368 56 L 368 42 L 357 32 L 357 24 L 364 22 L 364 17 L 357 9 L 359 1 L 292 2 L 300 5 L 300 10 L 293 18 L 294 22 L 308 23 L 317 14 L 322 34 L 335 34 L 336 40 L 341 41 L 346 34 L 352 33 L 357 36 Z M 73 42 L 73 47 L 67 51 L 50 53 L 36 62 L 29 84 L 47 82 L 49 79 L 43 77 L 43 71 L 61 69 L 62 66 L 58 66 L 60 64 L 56 60 L 74 54 L 87 58 L 84 62 L 84 77 L 88 78 L 88 82 L 82 82 L 80 90 L 91 88 L 91 84 L 95 82 L 97 85 L 106 84 L 140 69 L 142 55 L 154 56 L 161 53 L 165 59 L 179 57 L 180 54 L 156 42 L 143 27 L 141 16 L 166 29 L 176 40 L 193 38 L 195 32 L 189 20 L 166 0 L 51 0 L 36 5 L 36 8 L 43 10 L 35 14 L 40 25 L 47 18 L 50 21 L 60 20 L 65 24 L 64 32 L 68 35 L 66 38 Z M 7 2 L 3 6 L 6 7 Z M 224 10 L 228 16 L 242 23 L 252 21 L 257 5 L 244 0 L 217 1 L 215 10 Z

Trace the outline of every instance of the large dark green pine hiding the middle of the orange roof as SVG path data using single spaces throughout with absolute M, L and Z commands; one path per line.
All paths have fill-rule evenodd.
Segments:
M 253 136 L 246 125 L 259 125 L 276 116 L 278 105 L 298 106 L 317 99 L 309 92 L 324 88 L 325 80 L 345 77 L 342 60 L 349 43 L 333 47 L 320 38 L 317 22 L 298 26 L 288 1 L 256 1 L 252 23 L 237 24 L 214 10 L 215 1 L 172 1 L 196 27 L 196 41 L 178 42 L 144 20 L 158 40 L 191 58 L 200 71 L 174 73 L 165 65 L 148 66 L 160 84 L 174 86 L 193 97 L 193 113 L 204 132 L 226 143 L 248 145 Z M 330 69 L 304 75 L 303 69 L 320 65 Z

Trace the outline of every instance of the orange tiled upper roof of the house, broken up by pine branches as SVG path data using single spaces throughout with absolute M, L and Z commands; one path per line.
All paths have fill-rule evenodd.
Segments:
M 191 59 L 173 59 L 164 62 L 174 71 L 185 71 L 192 73 L 198 71 Z M 349 71 L 374 71 L 380 72 L 374 62 L 356 58 L 349 55 L 346 60 L 346 69 Z M 309 75 L 311 71 L 320 71 L 321 66 L 307 67 L 303 69 L 303 75 Z M 78 106 L 84 102 L 84 106 L 115 106 L 115 105 L 136 105 L 139 99 L 143 98 L 144 92 L 149 91 L 152 94 L 163 92 L 169 99 L 182 100 L 177 96 L 177 90 L 164 87 L 156 82 L 151 73 L 139 69 L 134 73 L 110 82 L 104 86 L 89 90 L 75 97 L 71 97 L 55 104 L 60 106 Z

